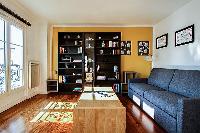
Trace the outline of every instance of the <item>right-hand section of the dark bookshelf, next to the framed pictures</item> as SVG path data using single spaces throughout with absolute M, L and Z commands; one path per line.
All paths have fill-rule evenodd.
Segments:
M 98 32 L 95 40 L 95 85 L 113 86 L 120 83 L 120 32 Z M 99 67 L 99 70 L 98 70 Z M 114 71 L 117 68 L 116 71 Z M 103 79 L 98 77 L 104 76 Z

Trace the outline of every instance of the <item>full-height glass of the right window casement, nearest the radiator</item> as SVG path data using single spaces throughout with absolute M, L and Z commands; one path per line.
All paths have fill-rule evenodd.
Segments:
M 23 86 L 23 31 L 11 25 L 11 89 Z

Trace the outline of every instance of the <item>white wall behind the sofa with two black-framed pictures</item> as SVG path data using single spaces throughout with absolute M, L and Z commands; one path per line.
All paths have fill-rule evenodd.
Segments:
M 153 67 L 200 69 L 200 0 L 192 0 L 154 26 Z M 195 42 L 175 47 L 175 31 L 195 24 Z M 156 37 L 168 33 L 168 46 L 156 49 Z

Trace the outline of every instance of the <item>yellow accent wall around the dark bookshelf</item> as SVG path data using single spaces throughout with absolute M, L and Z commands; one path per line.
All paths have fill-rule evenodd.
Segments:
M 151 70 L 151 62 L 138 56 L 137 42 L 149 41 L 150 54 L 152 53 L 152 27 L 54 27 L 52 48 L 52 77 L 57 79 L 56 70 L 58 62 L 58 32 L 122 32 L 122 40 L 132 41 L 131 55 L 121 56 L 121 71 L 135 71 L 139 77 L 147 77 Z

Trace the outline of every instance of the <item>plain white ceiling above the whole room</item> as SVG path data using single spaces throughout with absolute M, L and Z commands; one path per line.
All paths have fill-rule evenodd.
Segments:
M 154 25 L 191 0 L 16 0 L 53 24 Z

